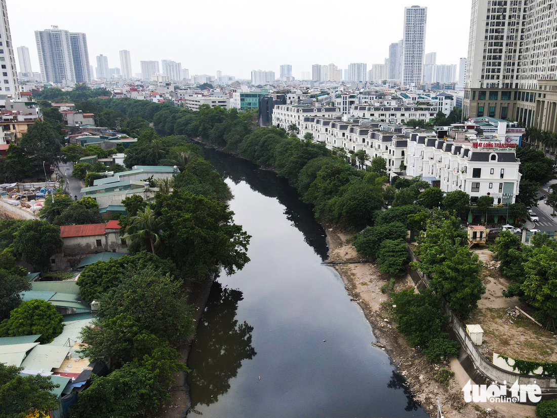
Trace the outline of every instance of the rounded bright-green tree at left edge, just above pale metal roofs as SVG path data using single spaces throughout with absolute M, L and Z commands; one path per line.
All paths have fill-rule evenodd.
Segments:
M 18 337 L 41 334 L 38 342 L 50 343 L 62 332 L 63 320 L 62 315 L 50 302 L 41 299 L 27 300 L 13 309 L 9 318 L 0 323 L 0 336 Z

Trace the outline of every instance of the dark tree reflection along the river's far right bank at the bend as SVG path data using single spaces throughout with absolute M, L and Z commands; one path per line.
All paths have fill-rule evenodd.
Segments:
M 216 149 L 203 148 L 203 153 L 223 178 L 231 179 L 234 184 L 245 181 L 253 191 L 263 196 L 275 197 L 285 207 L 287 219 L 304 234 L 304 241 L 314 249 L 321 260 L 327 258 L 329 249 L 324 240 L 323 227 L 315 222 L 311 207 L 298 198 L 297 191 L 289 186 L 286 179 L 278 177 L 274 172 L 262 170 L 245 159 Z

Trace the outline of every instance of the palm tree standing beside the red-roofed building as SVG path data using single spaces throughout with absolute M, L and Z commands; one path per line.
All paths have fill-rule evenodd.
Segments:
M 158 217 L 150 207 L 146 207 L 143 212 L 138 211 L 137 215 L 129 218 L 124 239 L 129 240 L 132 247 L 145 244 L 147 251 L 155 254 L 155 248 L 161 242 L 160 232 L 164 223 L 162 217 Z

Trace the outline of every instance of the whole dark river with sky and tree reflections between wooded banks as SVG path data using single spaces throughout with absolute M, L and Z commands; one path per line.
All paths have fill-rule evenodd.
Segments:
M 252 235 L 245 268 L 211 289 L 189 356 L 189 416 L 427 417 L 325 266 L 325 231 L 276 174 L 207 149 Z

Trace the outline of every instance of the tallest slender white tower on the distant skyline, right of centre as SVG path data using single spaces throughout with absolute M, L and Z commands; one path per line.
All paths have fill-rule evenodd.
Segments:
M 404 8 L 402 40 L 402 85 L 417 86 L 422 82 L 423 54 L 426 42 L 427 7 Z

